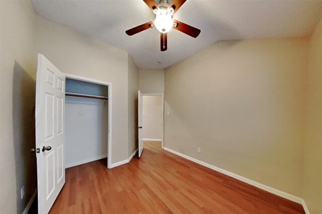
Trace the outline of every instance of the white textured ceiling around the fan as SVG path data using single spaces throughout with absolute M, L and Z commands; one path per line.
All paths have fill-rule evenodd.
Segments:
M 32 3 L 37 14 L 129 52 L 139 68 L 169 67 L 218 40 L 308 36 L 322 15 L 322 1 L 189 0 L 174 19 L 199 28 L 201 34 L 194 39 L 172 29 L 168 50 L 161 52 L 155 28 L 132 37 L 125 34 L 154 20 L 141 0 Z

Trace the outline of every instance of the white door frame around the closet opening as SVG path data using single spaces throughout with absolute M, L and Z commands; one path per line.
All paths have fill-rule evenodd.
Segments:
M 112 168 L 112 83 L 95 80 L 87 77 L 76 76 L 64 73 L 66 78 L 80 80 L 89 83 L 96 83 L 108 87 L 108 139 L 107 139 L 107 167 Z

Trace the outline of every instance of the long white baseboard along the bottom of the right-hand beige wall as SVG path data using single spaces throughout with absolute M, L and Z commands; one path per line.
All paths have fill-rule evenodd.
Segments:
M 187 156 L 187 155 L 185 155 L 185 154 L 179 153 L 179 152 L 174 151 L 174 150 L 172 150 L 172 149 L 169 149 L 169 148 L 166 148 L 166 147 L 165 147 L 164 149 L 165 149 L 166 151 L 169 151 L 169 152 L 171 152 L 171 153 L 174 153 L 174 154 L 176 154 L 176 155 L 179 155 L 179 156 L 181 156 L 181 157 L 183 157 L 183 158 L 185 158 L 185 159 L 188 159 L 188 160 L 191 160 L 191 161 L 193 161 L 193 162 L 195 162 L 195 163 L 198 163 L 198 164 L 200 164 L 200 165 L 203 165 L 203 166 L 205 166 L 205 167 L 207 167 L 207 168 L 213 169 L 213 170 L 215 170 L 215 171 L 217 171 L 217 172 L 220 172 L 220 173 L 222 173 L 222 174 L 225 174 L 225 175 L 228 175 L 228 176 L 230 176 L 230 177 L 233 177 L 233 178 L 235 178 L 235 179 L 237 179 L 237 180 L 240 180 L 240 181 L 243 181 L 243 182 L 248 183 L 248 184 L 250 184 L 250 185 L 256 186 L 256 187 L 258 187 L 258 188 L 260 188 L 260 189 L 263 189 L 263 190 L 265 190 L 265 191 L 271 192 L 271 193 L 273 193 L 273 194 L 276 194 L 276 195 L 281 196 L 281 197 L 283 197 L 283 198 L 289 199 L 289 200 L 294 201 L 294 202 L 296 202 L 296 203 L 300 203 L 300 204 L 302 204 L 303 199 L 302 199 L 302 198 L 300 198 L 300 197 L 297 197 L 297 196 L 291 195 L 291 194 L 289 194 L 289 193 L 286 193 L 286 192 L 280 191 L 280 190 L 278 190 L 278 189 L 274 189 L 274 188 L 272 188 L 272 187 L 266 186 L 266 185 L 264 185 L 264 184 L 261 184 L 261 183 L 259 183 L 259 182 L 254 181 L 254 180 L 248 179 L 248 178 L 246 178 L 246 177 L 243 177 L 243 176 L 237 175 L 237 174 L 235 174 L 235 173 L 229 172 L 229 171 L 227 171 L 227 170 L 221 169 L 221 168 L 219 168 L 219 167 L 213 166 L 213 165 L 211 165 L 211 164 L 209 164 L 209 163 L 205 163 L 205 162 L 203 162 L 203 161 L 200 161 L 200 160 L 197 160 L 197 159 L 195 159 L 195 158 L 189 157 L 189 156 Z

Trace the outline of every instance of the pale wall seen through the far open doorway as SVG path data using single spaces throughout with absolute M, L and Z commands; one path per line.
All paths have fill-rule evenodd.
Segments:
M 143 138 L 161 139 L 162 96 L 143 96 Z

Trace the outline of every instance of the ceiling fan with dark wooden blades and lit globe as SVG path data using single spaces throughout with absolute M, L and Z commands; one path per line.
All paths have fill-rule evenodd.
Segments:
M 173 0 L 169 5 L 168 0 L 160 0 L 159 4 L 156 5 L 154 0 L 143 0 L 143 2 L 155 14 L 155 20 L 127 30 L 125 33 L 129 36 L 132 36 L 141 31 L 155 27 L 160 32 L 161 51 L 167 51 L 168 32 L 172 28 L 193 38 L 197 38 L 201 32 L 199 29 L 179 22 L 178 20 L 173 20 L 173 15 L 175 15 L 175 13 L 186 1 L 187 0 Z

